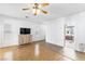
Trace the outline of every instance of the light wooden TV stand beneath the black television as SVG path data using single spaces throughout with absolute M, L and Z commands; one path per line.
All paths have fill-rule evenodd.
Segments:
M 31 35 L 19 35 L 19 44 L 30 43 L 32 42 Z

